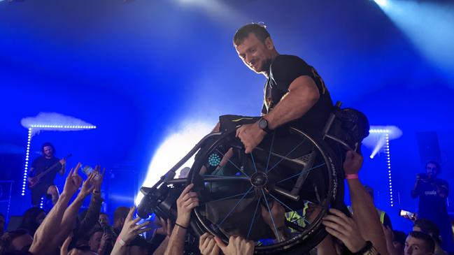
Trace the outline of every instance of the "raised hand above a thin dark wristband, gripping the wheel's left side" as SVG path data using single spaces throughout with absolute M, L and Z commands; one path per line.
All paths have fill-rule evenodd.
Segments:
M 194 207 L 199 206 L 199 198 L 197 193 L 190 192 L 194 187 L 194 184 L 189 184 L 180 194 L 180 197 L 176 200 L 176 224 L 181 225 L 185 228 L 189 226 L 189 221 L 191 219 L 191 211 Z

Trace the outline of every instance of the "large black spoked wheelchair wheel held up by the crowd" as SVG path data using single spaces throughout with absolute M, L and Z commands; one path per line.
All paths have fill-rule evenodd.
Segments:
M 234 131 L 217 136 L 189 176 L 200 200 L 192 223 L 201 232 L 253 240 L 256 254 L 301 254 L 325 238 L 322 217 L 343 205 L 340 168 L 325 143 L 279 129 L 246 154 Z

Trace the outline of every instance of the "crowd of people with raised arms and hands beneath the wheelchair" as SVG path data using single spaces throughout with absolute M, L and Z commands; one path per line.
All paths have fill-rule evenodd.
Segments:
M 327 237 L 311 254 L 448 254 L 442 247 L 437 224 L 428 219 L 414 221 L 406 235 L 383 224 L 367 188 L 358 178 L 362 156 L 349 151 L 343 168 L 350 190 L 352 215 L 334 208 L 322 221 Z M 79 175 L 80 163 L 66 177 L 64 189 L 52 210 L 31 207 L 24 212 L 22 224 L 3 233 L 4 217 L 0 216 L 0 254 L 184 254 L 190 228 L 191 211 L 199 206 L 197 193 L 189 184 L 176 201 L 176 222 L 155 217 L 150 221 L 134 217 L 136 207 L 118 207 L 110 221 L 101 212 L 99 192 L 103 174 L 97 167 L 87 180 Z M 69 201 L 78 194 L 71 203 Z M 87 210 L 79 212 L 90 196 Z M 277 204 L 277 203 L 276 203 Z M 150 232 L 151 231 L 151 232 Z M 150 233 L 143 238 L 142 233 Z M 199 238 L 200 254 L 253 254 L 255 242 L 232 235 L 225 243 L 217 236 L 204 233 Z

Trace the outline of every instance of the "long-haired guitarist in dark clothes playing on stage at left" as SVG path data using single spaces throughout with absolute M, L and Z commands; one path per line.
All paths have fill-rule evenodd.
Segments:
M 66 172 L 66 159 L 57 159 L 57 157 L 54 156 L 55 147 L 52 143 L 44 143 L 41 145 L 41 153 L 43 155 L 39 156 L 31 163 L 30 175 L 32 177 L 48 170 L 48 168 L 55 165 L 55 163 L 58 162 L 58 164 L 50 170 L 49 173 L 41 177 L 37 184 L 31 187 L 31 205 L 34 207 L 38 207 L 43 195 L 51 196 L 53 205 L 57 203 L 59 191 L 54 184 L 55 175 L 57 175 L 57 173 L 64 175 Z M 32 177 L 29 177 L 29 183 L 33 179 Z

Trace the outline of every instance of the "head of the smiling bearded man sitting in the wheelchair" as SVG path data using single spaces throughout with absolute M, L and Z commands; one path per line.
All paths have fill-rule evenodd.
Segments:
M 240 59 L 255 73 L 267 73 L 278 55 L 263 24 L 246 24 L 236 31 L 233 41 Z

